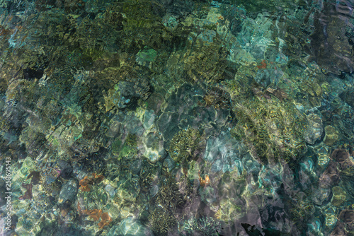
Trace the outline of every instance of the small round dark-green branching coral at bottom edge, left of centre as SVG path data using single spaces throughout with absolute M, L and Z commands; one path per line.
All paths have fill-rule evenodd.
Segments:
M 164 208 L 156 207 L 149 216 L 149 221 L 152 224 L 152 231 L 157 236 L 167 235 L 173 225 L 176 224 L 176 219 L 169 211 Z

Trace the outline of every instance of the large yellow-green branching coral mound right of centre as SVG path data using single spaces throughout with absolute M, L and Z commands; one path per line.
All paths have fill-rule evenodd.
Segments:
M 285 102 L 281 92 L 276 95 L 283 102 L 257 88 L 241 91 L 235 98 L 237 124 L 232 136 L 246 141 L 251 154 L 261 163 L 276 162 L 278 158 L 290 161 L 297 153 L 306 151 L 303 135 L 307 131 L 307 117 Z

